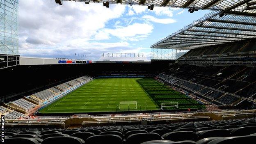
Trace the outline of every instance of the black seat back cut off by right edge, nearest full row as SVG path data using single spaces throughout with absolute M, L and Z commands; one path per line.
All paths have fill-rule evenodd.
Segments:
M 256 133 L 256 126 L 247 126 L 241 128 L 234 128 L 231 131 L 232 136 L 250 135 Z

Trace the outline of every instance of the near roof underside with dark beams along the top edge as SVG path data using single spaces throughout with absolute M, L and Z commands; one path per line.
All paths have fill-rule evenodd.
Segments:
M 221 10 L 227 13 L 240 13 L 255 15 L 256 14 L 256 0 L 63 0 L 63 1 L 78 1 L 85 2 L 109 2 L 111 4 L 125 4 L 125 5 L 152 5 L 157 7 L 177 7 L 190 8 L 190 12 L 198 9 Z M 56 3 L 62 5 L 61 0 L 55 0 Z

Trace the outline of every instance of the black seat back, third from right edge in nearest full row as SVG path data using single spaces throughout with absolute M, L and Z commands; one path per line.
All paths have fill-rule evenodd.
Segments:
M 162 137 L 175 142 L 182 140 L 197 141 L 197 134 L 192 131 L 171 132 L 162 135 Z

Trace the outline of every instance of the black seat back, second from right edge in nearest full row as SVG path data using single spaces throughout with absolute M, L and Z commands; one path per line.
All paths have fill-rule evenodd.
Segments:
M 206 137 L 229 137 L 229 131 L 227 129 L 217 129 L 217 130 L 203 130 L 196 133 L 200 139 Z

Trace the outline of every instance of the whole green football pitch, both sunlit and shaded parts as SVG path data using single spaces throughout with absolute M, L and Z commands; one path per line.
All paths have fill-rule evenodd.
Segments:
M 119 102 L 137 102 L 120 110 Z M 41 113 L 160 110 L 163 102 L 180 108 L 203 108 L 191 98 L 152 78 L 96 78 L 39 110 Z

